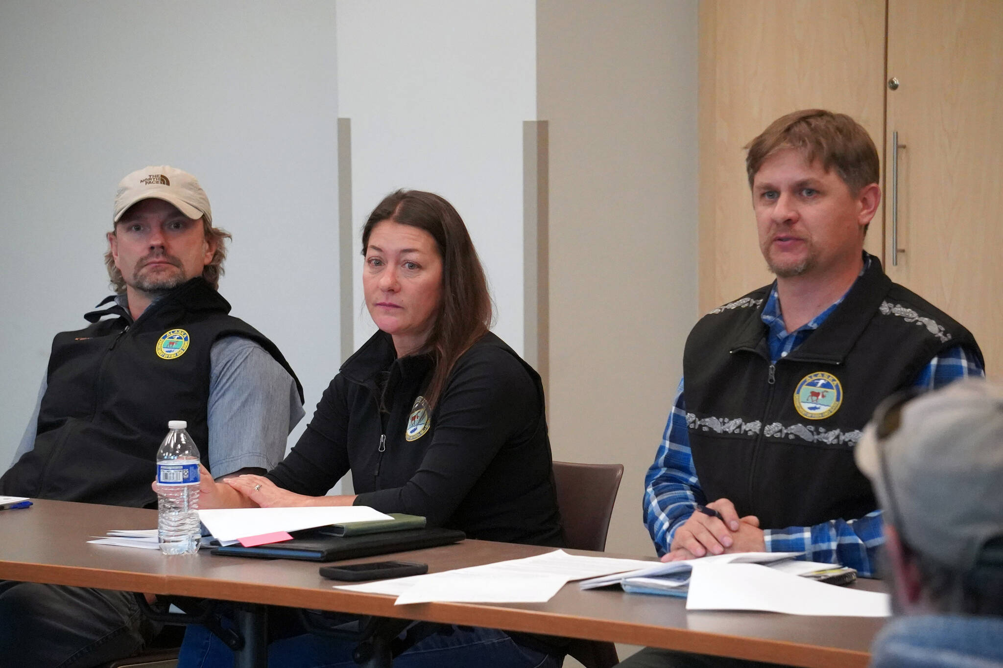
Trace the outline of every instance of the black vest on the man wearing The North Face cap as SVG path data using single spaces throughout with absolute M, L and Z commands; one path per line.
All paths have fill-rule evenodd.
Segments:
M 112 305 L 84 315 L 89 326 L 56 335 L 34 449 L 0 478 L 0 494 L 152 506 L 154 459 L 170 420 L 188 422 L 208 466 L 210 350 L 217 340 L 250 339 L 296 379 L 272 342 L 229 312 L 230 303 L 199 277 L 131 324 Z M 101 319 L 106 315 L 115 317 Z M 176 329 L 184 335 L 169 338 Z

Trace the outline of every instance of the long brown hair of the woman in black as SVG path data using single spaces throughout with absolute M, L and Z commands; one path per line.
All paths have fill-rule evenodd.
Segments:
M 442 299 L 422 349 L 434 361 L 425 390 L 425 401 L 434 407 L 456 360 L 487 332 L 491 321 L 487 280 L 463 219 L 442 197 L 421 190 L 388 194 L 362 227 L 363 255 L 373 227 L 384 220 L 425 230 L 435 239 L 442 258 Z

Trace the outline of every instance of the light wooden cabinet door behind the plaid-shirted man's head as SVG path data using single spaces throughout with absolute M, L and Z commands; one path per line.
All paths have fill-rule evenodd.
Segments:
M 881 146 L 885 0 L 702 0 L 701 312 L 772 280 L 759 252 L 742 146 L 779 116 L 850 114 Z M 882 221 L 867 247 L 881 252 Z

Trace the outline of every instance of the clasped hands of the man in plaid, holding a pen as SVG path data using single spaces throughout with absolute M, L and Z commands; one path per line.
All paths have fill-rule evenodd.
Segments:
M 738 517 L 735 506 L 727 499 L 718 499 L 706 506 L 721 514 L 724 521 L 693 513 L 683 526 L 676 530 L 669 553 L 662 561 L 696 559 L 707 555 L 730 554 L 732 552 L 765 552 L 759 518 L 754 515 Z

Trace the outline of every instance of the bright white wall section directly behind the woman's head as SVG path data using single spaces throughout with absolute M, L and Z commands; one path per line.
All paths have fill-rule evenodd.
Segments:
M 523 349 L 523 121 L 536 118 L 533 0 L 339 0 L 339 115 L 352 124 L 359 229 L 387 193 L 437 192 L 462 216 Z M 355 344 L 375 325 L 355 285 Z

